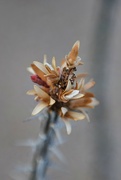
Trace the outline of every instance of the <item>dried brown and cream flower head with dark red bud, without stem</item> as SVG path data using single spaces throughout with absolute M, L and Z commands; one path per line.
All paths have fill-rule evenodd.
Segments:
M 88 92 L 95 82 L 90 80 L 85 83 L 87 74 L 75 74 L 77 66 L 83 64 L 78 56 L 79 47 L 80 42 L 77 41 L 62 60 L 61 66 L 56 65 L 55 57 L 52 58 L 52 64 L 49 64 L 44 56 L 43 63 L 34 61 L 28 68 L 32 73 L 31 80 L 37 84 L 27 92 L 34 95 L 38 102 L 32 115 L 44 108 L 50 112 L 56 111 L 64 120 L 68 134 L 71 132 L 69 119 L 89 119 L 84 109 L 94 108 L 98 104 L 94 94 Z

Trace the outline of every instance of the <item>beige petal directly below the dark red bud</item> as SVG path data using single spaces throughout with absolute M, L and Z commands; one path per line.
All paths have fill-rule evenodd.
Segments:
M 45 91 L 43 91 L 41 88 L 39 88 L 37 85 L 34 85 L 34 90 L 36 91 L 37 95 L 39 97 L 41 97 L 43 100 L 44 99 L 49 100 L 50 96 Z

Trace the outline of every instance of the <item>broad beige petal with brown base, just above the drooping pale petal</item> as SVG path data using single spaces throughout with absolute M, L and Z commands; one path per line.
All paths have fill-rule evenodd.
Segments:
M 65 116 L 75 121 L 82 120 L 85 118 L 85 115 L 83 113 L 74 112 L 74 111 L 68 111 Z

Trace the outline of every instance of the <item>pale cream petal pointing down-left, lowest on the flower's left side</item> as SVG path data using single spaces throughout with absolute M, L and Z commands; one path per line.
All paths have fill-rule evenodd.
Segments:
M 32 115 L 38 114 L 40 111 L 42 111 L 47 106 L 48 106 L 47 103 L 44 103 L 43 101 L 41 101 L 39 104 L 37 104 L 37 106 L 32 111 Z

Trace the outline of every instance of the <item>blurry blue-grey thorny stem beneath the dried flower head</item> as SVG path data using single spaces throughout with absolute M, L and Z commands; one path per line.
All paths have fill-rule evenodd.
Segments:
M 54 117 L 53 117 L 54 114 Z M 52 125 L 56 124 L 58 113 L 48 111 L 48 118 L 45 121 L 43 136 L 38 137 L 35 153 L 32 160 L 32 173 L 29 180 L 42 180 L 45 178 L 50 164 L 49 148 L 54 144 L 55 130 Z

